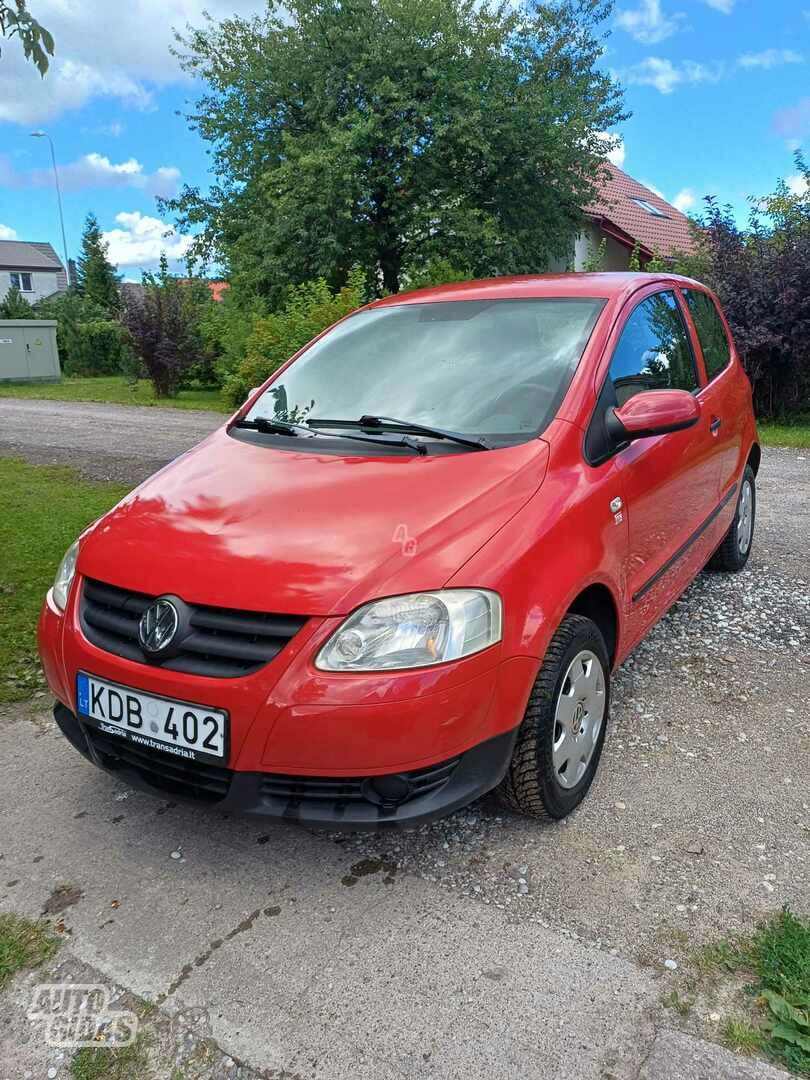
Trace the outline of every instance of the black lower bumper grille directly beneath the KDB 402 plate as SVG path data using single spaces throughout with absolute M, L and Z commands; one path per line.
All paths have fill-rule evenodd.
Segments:
M 91 747 L 106 769 L 132 769 L 151 787 L 181 798 L 219 802 L 228 794 L 233 773 L 230 769 L 202 761 L 189 761 L 156 750 L 141 750 L 123 739 L 116 739 L 85 727 Z

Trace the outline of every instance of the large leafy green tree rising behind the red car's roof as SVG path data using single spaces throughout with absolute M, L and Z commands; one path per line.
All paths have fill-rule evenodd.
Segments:
M 164 208 L 273 302 L 352 266 L 395 293 L 567 253 L 624 118 L 598 66 L 612 0 L 269 0 L 179 39 L 215 184 Z

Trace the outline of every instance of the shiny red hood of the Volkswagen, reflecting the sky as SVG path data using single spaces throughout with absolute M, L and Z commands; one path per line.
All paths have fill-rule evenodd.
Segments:
M 79 571 L 198 604 L 343 615 L 441 588 L 531 498 L 548 457 L 540 438 L 366 457 L 252 445 L 221 429 L 103 517 Z

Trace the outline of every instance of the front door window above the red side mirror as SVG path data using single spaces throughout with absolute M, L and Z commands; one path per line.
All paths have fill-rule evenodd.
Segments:
M 642 300 L 624 324 L 610 362 L 619 405 L 643 390 L 697 390 L 689 335 L 674 293 Z

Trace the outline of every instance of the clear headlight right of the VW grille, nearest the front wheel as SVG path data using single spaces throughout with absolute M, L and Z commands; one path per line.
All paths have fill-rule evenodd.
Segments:
M 442 589 L 374 600 L 350 615 L 315 658 L 325 672 L 428 667 L 501 639 L 501 598 L 484 589 Z

